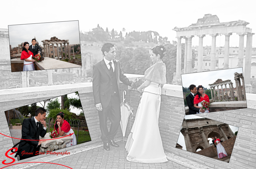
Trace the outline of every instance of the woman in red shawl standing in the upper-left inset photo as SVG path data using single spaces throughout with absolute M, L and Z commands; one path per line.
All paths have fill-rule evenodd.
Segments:
M 31 51 L 28 50 L 29 48 L 29 43 L 25 42 L 23 44 L 23 49 L 22 49 L 22 54 L 20 56 L 20 60 L 24 60 L 24 66 L 23 66 L 23 71 L 31 71 L 35 70 L 33 62 L 35 61 L 32 59 L 34 56 Z

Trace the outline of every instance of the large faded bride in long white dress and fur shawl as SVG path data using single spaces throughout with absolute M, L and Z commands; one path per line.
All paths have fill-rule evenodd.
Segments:
M 161 104 L 160 85 L 166 83 L 166 67 L 162 62 L 165 53 L 163 45 L 152 48 L 150 58 L 156 63 L 145 71 L 146 81 L 138 88 L 139 92 L 142 92 L 143 89 L 144 91 L 125 146 L 128 151 L 127 161 L 137 163 L 168 161 L 163 151 L 158 127 Z

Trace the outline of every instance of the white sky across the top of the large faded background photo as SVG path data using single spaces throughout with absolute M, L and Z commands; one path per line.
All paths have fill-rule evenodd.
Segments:
M 126 31 L 156 31 L 162 37 L 168 37 L 170 41 L 176 40 L 176 32 L 172 29 L 187 27 L 196 23 L 197 19 L 203 18 L 205 14 L 217 15 L 220 22 L 244 20 L 250 24 L 247 27 L 256 32 L 255 5 L 251 0 L 180 0 L 180 1 L 77 1 L 72 3 L 68 0 L 46 1 L 40 4 L 40 10 L 34 9 L 33 1 L 22 3 L 18 0 L 3 1 L 0 14 L 0 28 L 8 29 L 8 25 L 43 23 L 79 20 L 80 31 L 88 32 L 99 24 L 104 30 L 108 27 L 120 32 Z M 15 5 L 13 5 L 15 4 Z M 11 8 L 10 8 L 11 6 Z M 25 10 L 26 9 L 26 10 Z M 29 10 L 27 10 L 29 9 Z M 35 15 L 36 19 L 32 19 Z M 54 30 L 51 30 L 54 31 Z M 58 31 L 55 30 L 55 31 Z M 29 33 L 30 34 L 30 33 Z M 33 33 L 27 36 L 34 37 Z M 58 36 L 57 36 L 58 37 Z M 39 38 L 39 37 L 38 37 Z M 60 37 L 58 37 L 60 38 Z M 40 37 L 41 39 L 41 37 Z M 185 40 L 182 39 L 182 43 Z M 192 39 L 192 45 L 198 45 L 199 38 Z M 225 36 L 217 36 L 216 46 L 223 46 Z M 253 36 L 252 46 L 256 47 L 256 35 Z M 203 45 L 211 45 L 209 35 L 203 38 Z M 236 33 L 230 36 L 230 46 L 239 45 L 239 36 Z M 244 41 L 246 46 L 246 36 Z

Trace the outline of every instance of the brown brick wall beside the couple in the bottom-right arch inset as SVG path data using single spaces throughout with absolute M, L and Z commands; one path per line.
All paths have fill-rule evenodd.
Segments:
M 229 138 L 228 140 L 222 142 L 222 146 L 225 148 L 225 151 L 227 152 L 228 155 L 232 154 L 233 146 L 236 141 L 236 137 L 234 136 L 232 138 Z M 215 157 L 217 155 L 217 149 L 213 146 L 208 147 L 206 149 L 203 149 L 201 151 L 196 152 L 196 154 L 204 155 L 207 157 Z

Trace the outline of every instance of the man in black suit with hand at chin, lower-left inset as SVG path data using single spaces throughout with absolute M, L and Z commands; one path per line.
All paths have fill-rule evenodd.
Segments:
M 18 147 L 19 159 L 26 159 L 36 156 L 38 154 L 40 145 L 45 140 L 39 140 L 39 136 L 44 137 L 46 134 L 45 122 L 46 110 L 42 107 L 35 110 L 35 116 L 32 118 L 25 118 L 22 123 L 22 139 L 28 139 L 26 142 L 20 140 Z M 39 124 L 39 121 L 41 124 Z

